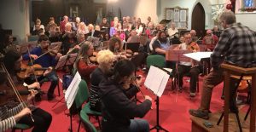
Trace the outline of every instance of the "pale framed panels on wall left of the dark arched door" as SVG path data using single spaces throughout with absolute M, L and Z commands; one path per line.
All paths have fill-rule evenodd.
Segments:
M 188 28 L 188 17 L 189 9 L 188 8 L 166 8 L 165 9 L 165 19 L 172 20 L 176 23 L 178 29 L 187 29 Z

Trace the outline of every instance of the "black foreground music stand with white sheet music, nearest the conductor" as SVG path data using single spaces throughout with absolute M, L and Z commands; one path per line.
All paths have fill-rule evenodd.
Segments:
M 145 87 L 150 89 L 154 95 L 156 95 L 156 100 L 155 100 L 155 105 L 156 105 L 156 125 L 151 128 L 156 129 L 158 132 L 160 130 L 164 130 L 168 132 L 168 130 L 162 128 L 159 123 L 159 98 L 160 96 L 164 93 L 164 90 L 166 89 L 166 83 L 168 82 L 169 79 L 169 74 L 166 72 L 162 71 L 160 68 L 155 67 L 155 66 L 150 66 L 148 75 L 145 80 Z

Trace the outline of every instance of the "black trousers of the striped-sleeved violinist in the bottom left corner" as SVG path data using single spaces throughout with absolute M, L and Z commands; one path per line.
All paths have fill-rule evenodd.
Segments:
M 25 117 L 20 118 L 18 123 L 25 123 L 33 126 L 32 132 L 47 132 L 52 120 L 52 116 L 49 112 L 45 112 L 43 109 L 37 108 L 32 111 L 32 118 L 34 119 L 34 122 L 32 122 L 29 115 L 26 115 Z

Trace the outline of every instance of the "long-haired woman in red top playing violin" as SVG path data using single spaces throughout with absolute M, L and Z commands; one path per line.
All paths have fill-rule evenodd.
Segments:
M 96 69 L 96 65 L 90 61 L 90 56 L 93 55 L 94 49 L 91 42 L 86 41 L 79 49 L 78 60 L 75 63 L 75 68 L 78 70 L 81 77 L 90 86 L 90 73 Z

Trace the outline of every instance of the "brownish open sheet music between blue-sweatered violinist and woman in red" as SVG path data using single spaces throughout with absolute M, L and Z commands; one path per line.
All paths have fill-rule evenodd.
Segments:
M 55 69 L 58 69 L 60 67 L 63 67 L 64 65 L 73 65 L 74 61 L 76 60 L 78 54 L 70 54 L 69 58 L 67 60 L 67 55 L 63 55 L 60 57 L 57 65 L 55 66 Z

